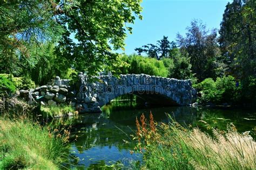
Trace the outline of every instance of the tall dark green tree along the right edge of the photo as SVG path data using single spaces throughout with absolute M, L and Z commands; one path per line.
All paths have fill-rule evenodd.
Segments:
M 220 25 L 220 47 L 230 74 L 241 80 L 242 101 L 256 103 L 256 2 L 233 1 L 226 5 Z

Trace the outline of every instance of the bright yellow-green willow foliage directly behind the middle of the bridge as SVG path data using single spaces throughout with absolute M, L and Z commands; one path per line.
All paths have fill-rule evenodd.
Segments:
M 123 59 L 130 65 L 129 68 L 123 70 L 123 74 L 148 74 L 162 77 L 168 75 L 168 70 L 161 60 L 139 55 L 124 56 Z

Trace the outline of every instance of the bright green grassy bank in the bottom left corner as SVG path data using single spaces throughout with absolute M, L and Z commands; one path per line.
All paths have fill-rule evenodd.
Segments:
M 64 133 L 25 118 L 0 118 L 0 169 L 58 169 L 69 154 Z

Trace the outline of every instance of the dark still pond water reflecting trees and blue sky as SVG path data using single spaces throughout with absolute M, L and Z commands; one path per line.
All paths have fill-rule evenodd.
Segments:
M 150 111 L 157 122 L 169 122 L 170 114 L 183 125 L 198 126 L 206 131 L 207 122 L 213 128 L 225 130 L 233 123 L 239 132 L 251 131 L 255 139 L 256 111 L 244 109 L 217 109 L 207 107 L 161 107 L 138 109 L 106 105 L 102 114 L 80 115 L 73 125 L 72 133 L 78 136 L 72 142 L 71 167 L 77 169 L 98 169 L 104 165 L 122 162 L 129 166 L 132 161 L 142 160 L 140 154 L 130 154 L 134 148 L 131 134 L 135 134 L 135 120 L 144 113 L 149 118 Z

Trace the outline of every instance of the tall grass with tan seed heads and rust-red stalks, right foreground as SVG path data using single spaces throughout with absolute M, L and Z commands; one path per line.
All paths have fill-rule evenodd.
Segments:
M 152 118 L 153 120 L 153 118 Z M 231 124 L 227 131 L 212 129 L 208 136 L 198 128 L 183 128 L 173 121 L 155 128 L 137 121 L 138 149 L 145 169 L 255 169 L 256 143 Z M 154 123 L 155 124 L 155 123 Z M 151 128 L 153 126 L 153 128 Z

